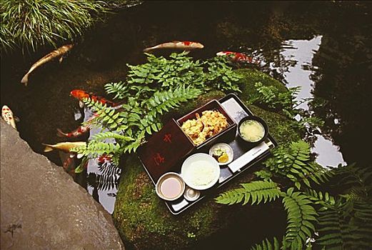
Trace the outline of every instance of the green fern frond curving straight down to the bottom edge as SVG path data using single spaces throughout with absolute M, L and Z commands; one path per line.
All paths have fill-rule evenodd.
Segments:
M 306 239 L 315 231 L 312 221 L 316 221 L 316 211 L 308 197 L 301 192 L 293 192 L 293 188 L 282 196 L 288 214 L 285 240 L 291 244 L 291 249 L 303 249 Z

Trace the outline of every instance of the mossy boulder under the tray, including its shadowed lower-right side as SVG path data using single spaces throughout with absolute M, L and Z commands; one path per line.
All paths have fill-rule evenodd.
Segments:
M 245 74 L 240 82 L 243 90 L 240 96 L 242 100 L 248 99 L 252 91 L 255 91 L 252 84 L 254 86 L 256 80 L 286 91 L 280 82 L 266 74 L 252 70 L 241 72 Z M 182 109 L 172 111 L 166 119 L 170 116 L 180 117 L 210 99 L 219 99 L 221 96 L 223 93 L 220 91 L 212 91 L 196 101 L 189 102 Z M 266 120 L 271 134 L 279 144 L 300 139 L 297 131 L 292 128 L 291 121 L 286 117 L 253 105 L 249 108 L 254 114 Z M 218 190 L 218 193 L 236 188 L 239 183 L 251 181 L 254 178 L 253 172 L 259 168 L 260 166 L 252 167 L 228 182 Z M 262 212 L 264 209 L 262 206 L 223 206 L 216 204 L 213 196 L 209 196 L 196 206 L 174 216 L 166 208 L 164 201 L 156 196 L 154 184 L 137 157 L 131 156 L 124 163 L 113 216 L 126 246 L 131 245 L 135 249 L 241 249 L 241 246 L 233 245 L 241 240 L 236 234 L 237 231 L 243 232 L 240 234 L 243 239 L 251 237 L 255 242 L 257 237 L 271 234 L 271 230 L 274 230 L 273 226 L 268 228 L 268 224 L 285 225 L 284 211 L 281 211 L 283 216 L 271 217 Z M 284 232 L 285 228 L 282 230 Z

